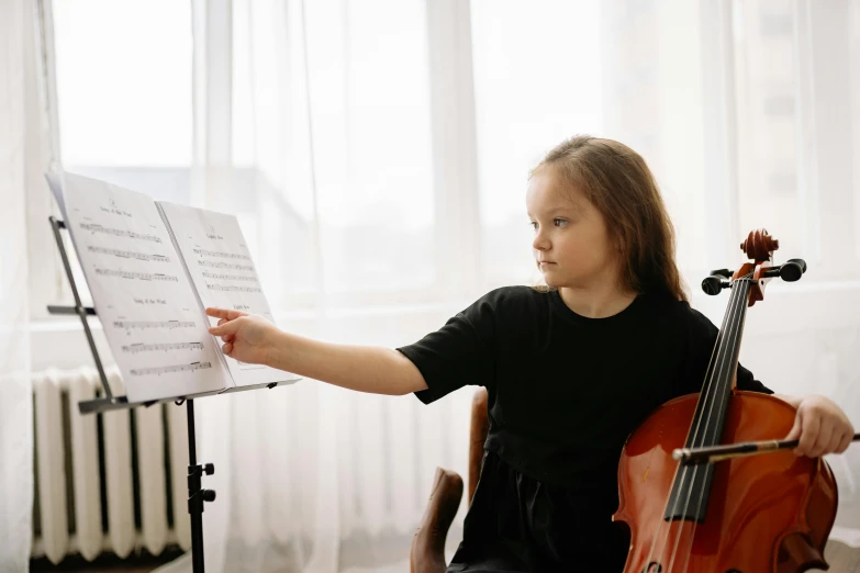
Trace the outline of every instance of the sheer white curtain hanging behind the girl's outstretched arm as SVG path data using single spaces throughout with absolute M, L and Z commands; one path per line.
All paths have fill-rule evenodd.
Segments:
M 193 3 L 191 200 L 239 217 L 282 328 L 395 347 L 480 294 L 458 26 L 456 1 Z M 206 568 L 403 571 L 436 465 L 466 475 L 470 397 L 304 380 L 199 401 Z

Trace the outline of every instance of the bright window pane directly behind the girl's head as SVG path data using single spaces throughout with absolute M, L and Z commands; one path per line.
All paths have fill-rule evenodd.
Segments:
M 563 139 L 603 131 L 599 4 L 471 5 L 485 282 L 530 282 L 528 171 Z

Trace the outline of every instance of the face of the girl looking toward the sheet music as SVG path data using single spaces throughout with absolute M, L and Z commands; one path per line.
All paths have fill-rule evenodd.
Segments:
M 582 191 L 566 183 L 551 166 L 544 166 L 528 183 L 526 207 L 535 229 L 535 262 L 549 286 L 615 284 L 618 249 L 603 215 Z

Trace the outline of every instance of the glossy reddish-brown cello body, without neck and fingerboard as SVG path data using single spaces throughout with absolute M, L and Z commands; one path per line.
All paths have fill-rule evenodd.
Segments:
M 679 471 L 672 451 L 684 446 L 699 398 L 690 394 L 667 402 L 624 447 L 614 519 L 630 528 L 625 573 L 826 570 L 824 546 L 836 517 L 837 487 L 820 458 L 784 450 L 716 463 L 706 517 L 666 519 Z M 795 408 L 777 397 L 733 390 L 723 440 L 784 436 L 794 417 Z

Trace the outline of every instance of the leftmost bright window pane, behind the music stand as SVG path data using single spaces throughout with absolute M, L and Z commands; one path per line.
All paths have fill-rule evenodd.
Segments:
M 153 0 L 57 1 L 51 4 L 60 161 L 156 199 L 186 202 L 191 165 L 191 9 Z M 46 304 L 72 304 L 53 238 L 44 223 L 55 213 L 43 191 L 31 199 L 32 316 Z M 64 236 L 67 237 L 66 234 Z M 51 252 L 45 252 L 48 249 Z M 92 304 L 72 258 L 85 304 Z

